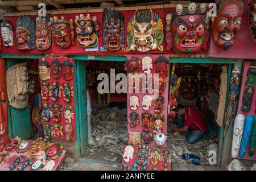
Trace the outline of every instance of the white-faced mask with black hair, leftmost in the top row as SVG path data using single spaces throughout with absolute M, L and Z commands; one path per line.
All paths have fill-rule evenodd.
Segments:
M 7 19 L 3 19 L 1 23 L 1 35 L 4 46 L 13 46 L 13 25 Z

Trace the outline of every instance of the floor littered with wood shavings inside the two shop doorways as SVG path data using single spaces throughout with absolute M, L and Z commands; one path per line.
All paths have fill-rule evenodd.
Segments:
M 170 122 L 168 122 L 170 123 Z M 117 107 L 93 107 L 91 114 L 93 144 L 89 144 L 84 157 L 106 162 L 122 162 L 123 148 L 127 144 L 127 109 Z M 217 152 L 217 138 L 189 144 L 186 140 L 171 137 L 168 131 L 167 148 L 171 151 L 171 162 L 186 163 L 180 155 L 184 152 L 200 156 L 202 165 L 209 165 L 208 152 Z

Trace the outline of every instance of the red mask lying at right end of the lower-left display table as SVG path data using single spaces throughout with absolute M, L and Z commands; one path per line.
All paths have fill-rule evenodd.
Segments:
M 55 160 L 62 154 L 63 144 L 50 143 L 44 148 L 44 150 L 46 151 L 46 160 Z

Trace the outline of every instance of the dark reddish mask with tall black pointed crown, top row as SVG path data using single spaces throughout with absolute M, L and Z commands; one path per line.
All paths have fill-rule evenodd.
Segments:
M 103 11 L 103 44 L 105 50 L 125 51 L 125 17 L 118 10 Z

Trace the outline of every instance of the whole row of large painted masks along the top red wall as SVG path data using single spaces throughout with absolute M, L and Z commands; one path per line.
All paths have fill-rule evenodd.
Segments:
M 249 1 L 248 23 L 252 38 L 256 41 L 255 5 L 255 0 Z M 36 23 L 30 16 L 19 16 L 15 30 L 17 48 L 46 50 L 51 47 L 52 41 L 57 47 L 68 48 L 75 46 L 76 37 L 80 47 L 92 50 L 98 47 L 102 36 L 101 51 L 172 50 L 177 53 L 198 53 L 201 50 L 207 51 L 209 31 L 212 30 L 213 41 L 218 47 L 227 50 L 236 43 L 243 6 L 240 0 L 222 0 L 217 4 L 217 16 L 211 22 L 205 3 L 198 7 L 196 3 L 189 3 L 188 7 L 179 4 L 172 13 L 166 14 L 165 28 L 155 11 L 136 10 L 127 23 L 126 31 L 122 11 L 104 9 L 102 35 L 101 22 L 90 14 L 76 15 L 74 20 L 65 19 L 64 16 L 38 17 Z M 1 34 L 4 46 L 14 45 L 14 28 L 7 19 L 1 23 Z M 164 41 L 166 50 L 162 46 Z

